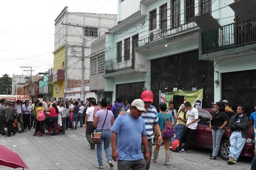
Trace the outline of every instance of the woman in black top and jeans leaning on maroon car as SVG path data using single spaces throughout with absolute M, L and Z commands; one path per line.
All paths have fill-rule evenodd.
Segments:
M 212 155 L 210 159 L 216 159 L 221 144 L 221 138 L 225 133 L 225 126 L 229 117 L 225 113 L 224 102 L 216 102 L 217 112 L 212 115 L 209 128 L 212 129 Z

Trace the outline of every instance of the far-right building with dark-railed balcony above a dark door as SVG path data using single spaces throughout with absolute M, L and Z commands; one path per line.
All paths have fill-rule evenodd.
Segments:
M 212 11 L 220 10 L 212 16 L 220 27 L 202 28 L 199 34 L 199 59 L 214 62 L 214 101 L 227 99 L 234 111 L 244 105 L 246 113 L 251 113 L 256 102 L 256 15 L 252 8 L 256 3 L 217 0 Z

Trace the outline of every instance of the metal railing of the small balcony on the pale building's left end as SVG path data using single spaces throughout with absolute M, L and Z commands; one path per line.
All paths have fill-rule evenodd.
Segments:
M 105 74 L 133 69 L 134 58 L 132 54 L 129 54 L 105 61 Z

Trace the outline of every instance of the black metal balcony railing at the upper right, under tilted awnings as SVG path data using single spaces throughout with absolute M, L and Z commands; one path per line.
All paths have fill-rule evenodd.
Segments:
M 256 43 L 256 21 L 239 21 L 201 33 L 202 54 Z

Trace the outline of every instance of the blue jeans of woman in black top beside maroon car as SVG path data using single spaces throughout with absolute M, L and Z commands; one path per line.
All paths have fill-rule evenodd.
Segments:
M 218 155 L 220 149 L 221 138 L 225 133 L 225 129 L 212 129 L 212 156 Z

